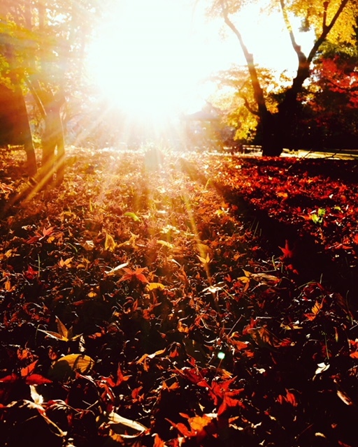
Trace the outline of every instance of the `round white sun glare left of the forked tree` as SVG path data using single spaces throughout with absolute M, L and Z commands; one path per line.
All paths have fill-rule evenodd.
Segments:
M 192 34 L 192 9 L 155 0 L 121 2 L 90 48 L 102 93 L 129 115 L 160 120 L 194 107 L 208 48 Z

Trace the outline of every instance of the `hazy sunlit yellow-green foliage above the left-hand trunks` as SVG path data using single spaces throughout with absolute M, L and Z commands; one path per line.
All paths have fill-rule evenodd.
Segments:
M 43 87 L 73 90 L 73 82 L 83 75 L 85 45 L 96 20 L 99 20 L 99 1 L 57 0 L 44 8 L 41 3 L 29 6 L 25 1 L 6 3 L 0 14 L 0 47 L 11 45 L 15 53 L 18 74 L 41 78 Z M 0 59 L 2 77 L 8 61 Z

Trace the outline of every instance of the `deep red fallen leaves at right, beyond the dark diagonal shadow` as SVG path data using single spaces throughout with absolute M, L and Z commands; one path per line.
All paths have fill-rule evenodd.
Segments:
M 358 161 L 209 157 L 210 178 L 358 264 Z

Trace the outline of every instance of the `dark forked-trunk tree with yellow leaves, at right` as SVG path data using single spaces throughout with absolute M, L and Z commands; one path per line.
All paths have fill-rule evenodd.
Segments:
M 264 155 L 275 156 L 282 153 L 283 147 L 294 147 L 292 135 L 294 124 L 299 114 L 299 94 L 303 89 L 303 83 L 310 78 L 310 68 L 314 59 L 317 59 L 318 50 L 326 41 L 343 43 L 352 42 L 353 26 L 355 25 L 355 1 L 275 1 L 268 4 L 262 2 L 262 7 L 269 12 L 273 8 L 280 8 L 282 20 L 287 29 L 292 51 L 297 56 L 296 74 L 290 85 L 285 88 L 278 103 L 277 110 L 272 111 L 268 107 L 267 94 L 264 90 L 262 79 L 255 65 L 255 54 L 250 52 L 250 42 L 245 42 L 240 26 L 236 26 L 235 17 L 246 6 L 245 1 L 216 0 L 211 2 L 210 14 L 221 15 L 225 24 L 234 33 L 243 51 L 250 75 L 252 87 L 252 99 L 244 97 L 244 105 L 250 113 L 257 116 L 257 132 L 262 144 Z M 315 41 L 308 54 L 305 54 L 294 34 L 289 15 L 301 17 L 302 27 L 306 31 L 315 31 Z M 268 20 L 270 17 L 268 16 Z M 269 27 L 268 27 L 269 32 Z M 264 38 L 262 33 L 262 38 Z M 273 51 L 277 49 L 273 48 Z M 310 78 L 310 82 L 315 82 Z

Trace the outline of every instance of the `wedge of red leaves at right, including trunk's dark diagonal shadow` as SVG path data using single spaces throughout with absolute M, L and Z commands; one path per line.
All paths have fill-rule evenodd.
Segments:
M 357 160 L 209 155 L 201 173 L 258 219 L 292 270 L 306 280 L 322 276 L 357 308 Z

